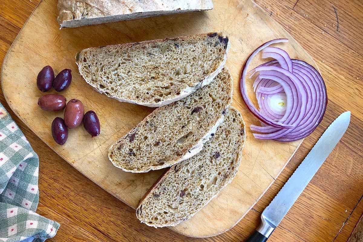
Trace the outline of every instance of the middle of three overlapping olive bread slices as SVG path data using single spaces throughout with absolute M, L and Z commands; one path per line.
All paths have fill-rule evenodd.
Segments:
M 203 148 L 232 102 L 232 79 L 225 69 L 188 97 L 154 110 L 111 145 L 109 159 L 128 172 L 162 169 Z

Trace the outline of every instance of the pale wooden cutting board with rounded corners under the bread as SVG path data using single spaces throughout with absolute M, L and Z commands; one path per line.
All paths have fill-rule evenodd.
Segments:
M 171 228 L 193 237 L 223 233 L 241 220 L 301 144 L 301 141 L 279 143 L 253 138 L 248 127 L 252 123 L 258 124 L 258 121 L 247 110 L 238 91 L 238 79 L 246 57 L 266 41 L 289 38 L 287 44 L 278 46 L 287 50 L 291 58 L 299 58 L 316 66 L 305 50 L 253 1 L 215 0 L 213 3 L 214 9 L 207 12 L 59 29 L 57 0 L 43 0 L 10 48 L 1 73 L 4 96 L 15 114 L 74 168 L 135 208 L 163 171 L 144 174 L 123 172 L 110 163 L 107 151 L 112 143 L 153 109 L 121 103 L 94 91 L 79 76 L 74 58 L 76 53 L 88 47 L 197 33 L 222 32 L 228 35 L 231 49 L 226 66 L 234 79 L 232 105 L 240 110 L 246 122 L 247 138 L 242 163 L 232 183 L 193 218 Z M 261 60 L 255 64 L 258 62 Z M 62 117 L 63 112 L 45 112 L 37 105 L 38 98 L 43 94 L 36 87 L 36 77 L 45 65 L 51 65 L 55 73 L 65 68 L 72 69 L 72 84 L 62 94 L 67 100 L 80 99 L 86 111 L 97 112 L 101 123 L 98 137 L 91 138 L 83 127 L 79 127 L 70 130 L 65 145 L 57 145 L 53 141 L 50 130 L 52 120 L 56 116 Z

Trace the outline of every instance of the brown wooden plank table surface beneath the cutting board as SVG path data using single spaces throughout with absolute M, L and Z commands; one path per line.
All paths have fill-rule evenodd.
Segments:
M 39 0 L 0 0 L 0 64 Z M 262 210 L 327 126 L 342 112 L 351 124 L 337 147 L 287 213 L 269 241 L 347 241 L 363 213 L 363 3 L 360 0 L 256 0 L 317 63 L 328 92 L 322 123 L 295 153 L 252 210 L 224 234 L 189 238 L 141 224 L 135 210 L 62 160 L 0 101 L 40 158 L 37 213 L 61 223 L 48 241 L 244 241 Z

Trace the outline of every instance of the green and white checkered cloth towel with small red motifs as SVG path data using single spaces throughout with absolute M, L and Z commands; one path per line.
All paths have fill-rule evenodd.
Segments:
M 39 159 L 0 104 L 0 242 L 43 242 L 59 223 L 35 213 Z

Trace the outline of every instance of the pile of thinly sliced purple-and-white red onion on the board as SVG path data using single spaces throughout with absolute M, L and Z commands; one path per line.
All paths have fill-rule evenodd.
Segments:
M 290 59 L 282 49 L 271 44 L 287 42 L 277 39 L 258 47 L 244 63 L 241 71 L 240 92 L 248 109 L 261 121 L 251 125 L 257 139 L 295 141 L 310 135 L 321 122 L 327 105 L 326 86 L 319 72 L 308 63 Z M 274 60 L 263 63 L 247 73 L 252 59 L 262 50 L 262 58 Z M 249 99 L 246 75 L 256 73 L 253 88 L 260 110 Z M 272 104 L 281 100 L 279 105 Z M 286 108 L 285 108 L 286 106 Z M 283 107 L 283 108 L 281 108 Z

